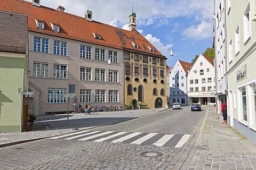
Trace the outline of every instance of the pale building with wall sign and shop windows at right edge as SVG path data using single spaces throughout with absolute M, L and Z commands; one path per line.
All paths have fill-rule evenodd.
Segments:
M 256 144 L 256 2 L 225 2 L 228 124 Z

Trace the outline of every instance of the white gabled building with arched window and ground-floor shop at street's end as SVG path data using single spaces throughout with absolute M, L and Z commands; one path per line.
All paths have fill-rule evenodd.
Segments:
M 200 54 L 188 72 L 187 89 L 188 105 L 215 104 L 215 69 L 213 59 Z

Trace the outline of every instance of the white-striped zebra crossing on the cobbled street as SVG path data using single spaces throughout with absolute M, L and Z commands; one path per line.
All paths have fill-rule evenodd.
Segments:
M 79 140 L 110 143 L 130 143 L 136 145 L 153 145 L 157 147 L 182 147 L 190 134 L 162 134 L 143 132 L 115 132 L 115 131 L 80 131 L 52 137 L 50 139 Z

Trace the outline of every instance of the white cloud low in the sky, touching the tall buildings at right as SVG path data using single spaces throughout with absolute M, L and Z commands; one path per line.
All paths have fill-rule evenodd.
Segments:
M 198 25 L 191 25 L 183 31 L 182 35 L 195 40 L 211 38 L 213 37 L 213 23 L 202 21 Z

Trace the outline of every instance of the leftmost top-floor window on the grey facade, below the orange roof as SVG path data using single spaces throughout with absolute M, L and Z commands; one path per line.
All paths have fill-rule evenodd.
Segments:
M 49 52 L 49 39 L 42 37 L 34 37 L 34 52 Z

